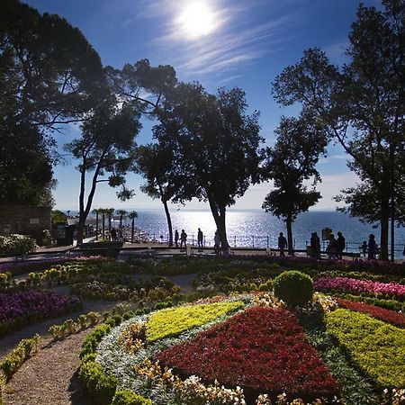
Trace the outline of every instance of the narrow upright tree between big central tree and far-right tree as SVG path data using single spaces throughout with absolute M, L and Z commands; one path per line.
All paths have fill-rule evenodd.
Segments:
M 284 218 L 288 250 L 293 254 L 293 221 L 320 199 L 315 190 L 320 181 L 316 164 L 325 153 L 327 139 L 320 124 L 305 112 L 298 119 L 283 117 L 275 133 L 275 146 L 266 148 L 263 175 L 274 180 L 276 189 L 266 195 L 262 208 Z M 311 178 L 309 190 L 304 182 Z

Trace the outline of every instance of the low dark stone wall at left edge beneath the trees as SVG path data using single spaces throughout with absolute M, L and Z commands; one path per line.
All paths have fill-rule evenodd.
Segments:
M 37 229 L 50 230 L 50 207 L 0 205 L 0 235 Z

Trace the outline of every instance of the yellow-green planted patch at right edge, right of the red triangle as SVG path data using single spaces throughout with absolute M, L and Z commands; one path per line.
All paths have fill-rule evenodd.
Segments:
M 328 332 L 355 363 L 383 387 L 405 386 L 405 334 L 402 329 L 363 313 L 338 309 L 327 313 Z

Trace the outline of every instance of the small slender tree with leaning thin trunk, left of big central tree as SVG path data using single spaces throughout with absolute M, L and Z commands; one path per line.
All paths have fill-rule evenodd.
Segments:
M 173 226 L 167 202 L 174 196 L 174 184 L 172 172 L 174 166 L 173 150 L 164 148 L 161 144 L 149 144 L 138 148 L 136 159 L 136 170 L 143 175 L 147 183 L 140 189 L 153 199 L 160 199 L 162 202 L 167 220 L 169 234 L 168 246 L 173 246 Z

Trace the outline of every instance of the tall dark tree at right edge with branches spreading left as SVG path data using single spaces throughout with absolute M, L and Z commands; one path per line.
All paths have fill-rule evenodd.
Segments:
M 404 176 L 405 139 L 405 4 L 401 0 L 383 0 L 385 10 L 360 4 L 357 21 L 349 34 L 349 63 L 341 69 L 329 63 L 320 49 L 304 51 L 300 63 L 286 67 L 276 77 L 274 94 L 285 105 L 300 102 L 316 114 L 345 149 L 363 184 L 375 195 L 374 210 L 381 225 L 381 258 L 388 258 L 388 229 L 396 214 L 402 221 L 404 212 L 395 209 L 404 200 L 401 179 Z M 345 191 L 347 203 L 356 202 L 348 211 L 368 220 L 369 203 L 361 196 L 359 184 Z M 401 206 L 403 208 L 403 204 Z M 401 208 L 399 207 L 399 208 Z M 375 219 L 375 217 L 374 217 Z

